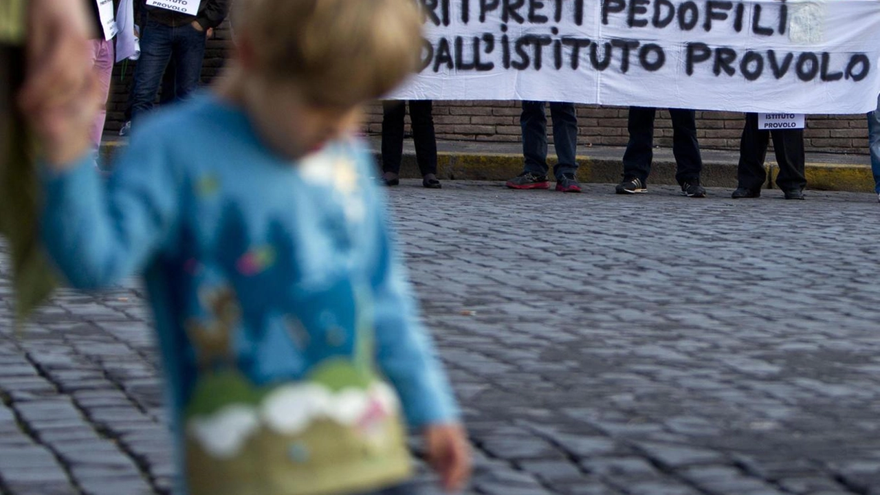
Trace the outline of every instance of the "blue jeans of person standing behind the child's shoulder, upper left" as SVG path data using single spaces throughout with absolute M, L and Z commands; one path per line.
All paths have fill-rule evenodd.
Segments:
M 186 98 L 199 87 L 206 39 L 203 31 L 189 24 L 172 27 L 154 20 L 147 21 L 141 38 L 141 58 L 137 61 L 131 88 L 132 121 L 152 109 L 162 75 L 172 58 L 177 99 Z

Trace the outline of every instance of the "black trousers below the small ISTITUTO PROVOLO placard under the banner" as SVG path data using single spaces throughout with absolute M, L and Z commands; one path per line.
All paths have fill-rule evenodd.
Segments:
M 740 188 L 760 189 L 766 181 L 764 159 L 767 144 L 773 137 L 779 175 L 776 184 L 785 191 L 802 190 L 807 185 L 803 174 L 803 129 L 759 130 L 758 114 L 745 115 L 743 137 L 739 141 L 737 181 Z

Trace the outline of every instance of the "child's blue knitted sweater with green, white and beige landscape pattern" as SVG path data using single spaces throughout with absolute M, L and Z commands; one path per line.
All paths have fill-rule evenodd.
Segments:
M 139 130 L 106 189 L 87 159 L 47 174 L 42 230 L 77 286 L 145 267 L 187 491 L 406 478 L 400 406 L 412 426 L 457 412 L 368 155 L 337 143 L 290 163 L 214 97 Z

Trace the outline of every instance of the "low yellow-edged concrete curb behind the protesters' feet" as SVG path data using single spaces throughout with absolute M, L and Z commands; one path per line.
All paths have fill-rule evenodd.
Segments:
M 380 153 L 375 139 L 372 140 L 373 155 L 379 160 Z M 447 143 L 448 144 L 448 143 Z M 106 141 L 101 146 L 101 156 L 109 159 L 116 152 L 126 146 L 126 141 L 116 139 Z M 447 148 L 449 146 L 446 146 Z M 490 148 L 491 145 L 487 145 Z M 438 151 L 437 174 L 445 180 L 467 181 L 506 181 L 523 169 L 523 157 L 518 153 L 477 151 L 470 143 L 467 151 Z M 552 154 L 552 151 L 551 151 Z M 608 153 L 579 155 L 577 161 L 578 181 L 585 183 L 617 183 L 620 181 L 620 159 L 610 159 Z M 665 153 L 668 154 L 668 153 Z M 730 159 L 726 161 L 705 160 L 701 182 L 707 187 L 736 188 L 737 187 L 737 162 L 735 153 L 730 152 Z M 769 158 L 769 157 L 768 157 Z M 863 159 L 862 159 L 863 160 Z M 554 159 L 548 159 L 552 166 Z M 768 181 L 766 187 L 772 188 L 776 174 L 779 172 L 775 162 L 767 160 L 766 169 L 773 181 Z M 811 162 L 807 157 L 807 183 L 808 188 L 831 191 L 872 192 L 874 190 L 874 178 L 871 168 L 862 163 L 823 163 Z M 403 162 L 400 167 L 400 176 L 403 178 L 420 178 L 418 166 L 415 164 L 415 153 L 412 149 L 405 149 Z M 651 166 L 649 178 L 651 184 L 674 185 L 675 161 L 657 157 Z

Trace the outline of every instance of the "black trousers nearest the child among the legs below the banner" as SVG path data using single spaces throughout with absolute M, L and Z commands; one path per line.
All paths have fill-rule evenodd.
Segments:
M 403 158 L 403 117 L 407 115 L 406 101 L 382 102 L 382 171 L 400 174 Z M 412 123 L 415 162 L 422 175 L 437 173 L 437 142 L 434 136 L 434 116 L 431 100 L 409 100 L 409 120 Z

